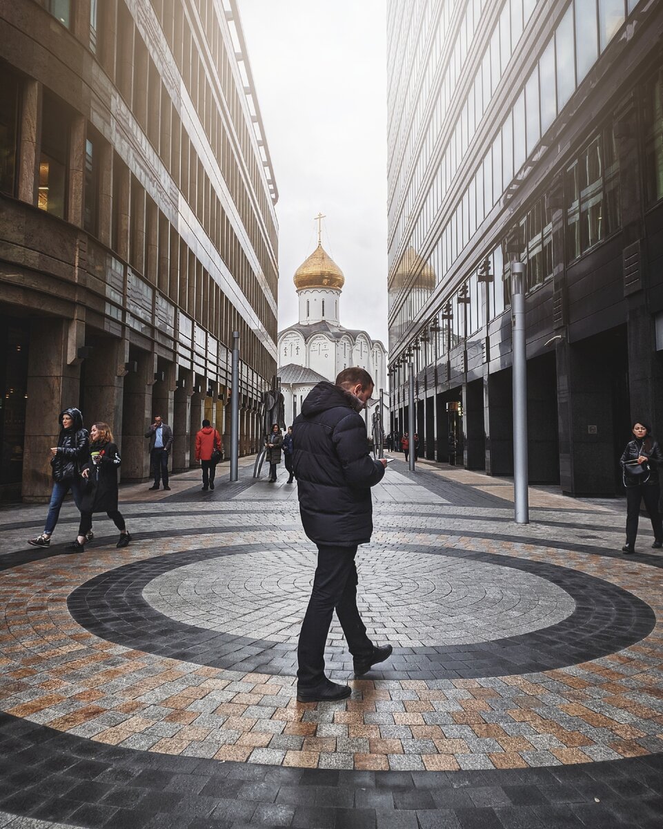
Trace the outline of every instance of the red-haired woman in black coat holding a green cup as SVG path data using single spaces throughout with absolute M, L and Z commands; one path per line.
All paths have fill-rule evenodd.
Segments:
M 79 536 L 70 544 L 70 550 L 84 549 L 85 533 L 92 526 L 93 512 L 105 512 L 113 520 L 120 531 L 116 546 L 126 547 L 131 536 L 118 510 L 118 467 L 121 463 L 118 447 L 113 443 L 113 434 L 107 423 L 93 424 L 89 436 L 90 459 L 81 473 L 89 488 L 80 506 Z

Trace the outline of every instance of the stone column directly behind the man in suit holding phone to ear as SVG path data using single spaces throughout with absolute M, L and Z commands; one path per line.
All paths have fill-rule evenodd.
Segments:
M 147 481 L 150 474 L 149 444 L 145 433 L 151 424 L 152 385 L 155 355 L 147 351 L 131 351 L 130 362 L 137 362 L 138 371 L 129 371 L 124 378 L 123 401 L 123 482 Z

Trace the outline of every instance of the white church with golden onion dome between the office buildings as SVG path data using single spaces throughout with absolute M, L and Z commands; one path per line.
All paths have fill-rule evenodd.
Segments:
M 318 242 L 318 247 L 295 271 L 299 298 L 299 322 L 278 335 L 281 392 L 285 399 L 286 424 L 301 410 L 306 395 L 321 380 L 334 382 L 339 371 L 361 366 L 375 381 L 369 419 L 385 391 L 382 423 L 388 431 L 387 351 L 365 331 L 340 323 L 339 303 L 345 284 L 343 272 Z

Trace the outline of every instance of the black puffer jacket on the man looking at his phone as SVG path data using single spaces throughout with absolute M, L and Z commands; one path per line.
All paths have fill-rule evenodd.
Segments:
M 368 454 L 359 401 L 339 385 L 319 382 L 292 424 L 292 463 L 301 522 L 316 544 L 353 546 L 371 540 L 370 487 L 382 463 Z

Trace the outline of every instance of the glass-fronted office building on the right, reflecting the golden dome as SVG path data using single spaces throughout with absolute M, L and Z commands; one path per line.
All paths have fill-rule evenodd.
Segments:
M 613 494 L 663 429 L 663 3 L 388 3 L 392 429 L 512 473 L 526 265 L 533 482 Z

